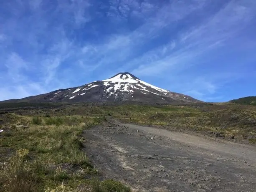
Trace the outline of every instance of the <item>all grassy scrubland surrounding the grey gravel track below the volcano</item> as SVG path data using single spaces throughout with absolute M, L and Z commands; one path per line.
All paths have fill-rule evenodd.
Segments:
M 256 106 L 252 105 L 0 104 L 0 129 L 4 129 L 0 133 L 0 191 L 129 191 L 119 182 L 92 177 L 100 173 L 86 157 L 80 135 L 104 123 L 105 116 L 256 143 Z

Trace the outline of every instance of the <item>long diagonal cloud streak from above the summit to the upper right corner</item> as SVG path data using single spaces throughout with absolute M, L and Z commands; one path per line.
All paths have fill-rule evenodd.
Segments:
M 180 47 L 176 51 L 170 51 L 169 54 L 158 57 L 160 50 L 166 45 L 155 49 L 157 58 L 150 63 L 144 64 L 143 58 L 134 60 L 129 63 L 138 66 L 134 73 L 139 75 L 157 75 L 166 69 L 172 69 L 173 66 L 179 65 L 191 66 L 191 61 L 197 59 L 199 55 L 209 51 L 211 48 L 217 48 L 225 40 L 233 38 L 244 26 L 256 15 L 256 8 L 246 2 L 231 1 L 223 9 L 210 17 L 206 22 L 192 29 L 181 33 L 176 39 Z M 225 18 L 225 19 L 223 19 Z M 171 44 L 173 42 L 170 42 Z M 171 49 L 172 50 L 172 49 Z M 144 54 L 145 57 L 152 58 L 152 51 Z M 145 56 L 146 55 L 146 56 Z M 142 64 L 140 64 L 142 63 Z

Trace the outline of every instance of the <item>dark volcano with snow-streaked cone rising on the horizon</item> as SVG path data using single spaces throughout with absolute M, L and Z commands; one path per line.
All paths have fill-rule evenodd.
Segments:
M 198 103 L 190 96 L 174 93 L 153 86 L 131 73 L 118 73 L 103 80 L 83 86 L 60 89 L 38 96 L 16 100 L 17 102 L 116 102 L 139 101 L 144 103 Z

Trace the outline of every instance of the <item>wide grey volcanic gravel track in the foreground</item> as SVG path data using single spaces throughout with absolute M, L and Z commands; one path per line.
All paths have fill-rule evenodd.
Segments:
M 83 134 L 85 150 L 104 179 L 146 192 L 256 191 L 253 146 L 113 123 Z

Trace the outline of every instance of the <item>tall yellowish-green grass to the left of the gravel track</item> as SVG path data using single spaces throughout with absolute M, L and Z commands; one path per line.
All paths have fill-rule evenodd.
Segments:
M 80 134 L 104 117 L 5 115 L 10 122 L 0 134 L 0 191 L 130 191 L 117 181 L 100 182 L 83 150 Z

